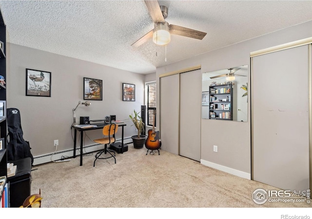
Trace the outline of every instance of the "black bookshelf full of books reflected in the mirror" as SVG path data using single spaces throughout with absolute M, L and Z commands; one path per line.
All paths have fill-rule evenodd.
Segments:
M 209 119 L 233 120 L 232 84 L 209 86 Z

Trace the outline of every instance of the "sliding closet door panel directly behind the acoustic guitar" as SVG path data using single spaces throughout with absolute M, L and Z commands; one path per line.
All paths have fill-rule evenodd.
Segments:
M 160 78 L 161 149 L 179 154 L 179 74 Z

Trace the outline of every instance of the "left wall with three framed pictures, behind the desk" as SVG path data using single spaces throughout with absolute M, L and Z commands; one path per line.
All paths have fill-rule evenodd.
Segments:
M 25 95 L 26 68 L 51 72 L 51 97 Z M 142 74 L 7 43 L 7 108 L 20 110 L 23 137 L 30 142 L 34 157 L 53 153 L 55 139 L 59 140 L 58 151 L 73 148 L 72 109 L 83 101 L 83 77 L 103 80 L 103 100 L 91 100 L 89 107 L 80 105 L 77 122 L 80 116 L 94 120 L 111 114 L 117 120 L 128 119 L 134 109 L 140 110 L 144 104 Z M 122 83 L 136 85 L 135 102 L 122 101 Z M 126 124 L 124 138 L 136 133 L 130 120 Z M 121 130 L 118 132 L 120 139 Z M 86 133 L 90 139 L 101 136 L 101 130 Z M 93 144 L 88 137 L 86 146 Z

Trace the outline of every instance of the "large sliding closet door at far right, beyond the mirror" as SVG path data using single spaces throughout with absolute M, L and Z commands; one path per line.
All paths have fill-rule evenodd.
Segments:
M 309 188 L 308 45 L 252 58 L 253 180 Z

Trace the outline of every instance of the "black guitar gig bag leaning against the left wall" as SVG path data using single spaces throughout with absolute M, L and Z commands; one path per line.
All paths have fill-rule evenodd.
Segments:
M 8 108 L 6 121 L 8 126 L 8 146 L 7 159 L 8 161 L 16 161 L 22 158 L 30 157 L 31 164 L 34 163 L 34 157 L 30 152 L 29 142 L 23 139 L 23 131 L 20 125 L 20 110 L 16 108 Z

